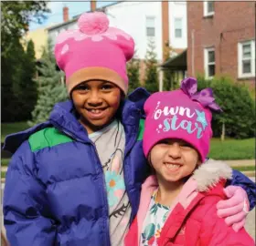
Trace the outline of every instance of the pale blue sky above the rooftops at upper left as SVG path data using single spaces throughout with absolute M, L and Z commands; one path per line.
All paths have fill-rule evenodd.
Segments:
M 110 5 L 112 3 L 114 3 L 114 1 L 97 1 L 97 7 Z M 63 22 L 62 9 L 64 6 L 69 7 L 69 19 L 71 19 L 74 15 L 80 15 L 81 13 L 90 10 L 90 1 L 50 1 L 48 2 L 48 7 L 51 10 L 51 13 L 48 14 L 48 19 L 41 25 L 30 23 L 30 31 Z

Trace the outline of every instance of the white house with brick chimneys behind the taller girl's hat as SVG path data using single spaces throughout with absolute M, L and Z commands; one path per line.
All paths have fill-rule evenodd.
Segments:
M 165 61 L 167 46 L 171 52 L 167 56 L 176 56 L 187 48 L 187 3 L 153 1 L 119 1 L 111 5 L 96 8 L 91 1 L 91 11 L 103 11 L 108 15 L 110 26 L 123 29 L 133 36 L 136 57 L 140 59 L 141 80 L 144 79 L 144 58 L 149 40 L 155 43 L 155 53 L 159 64 Z M 48 36 L 55 42 L 62 30 L 78 28 L 80 15 L 69 20 L 68 8 L 64 9 L 65 21 L 48 28 Z

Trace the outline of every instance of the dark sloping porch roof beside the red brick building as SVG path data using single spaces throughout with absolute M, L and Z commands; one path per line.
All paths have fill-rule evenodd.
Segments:
M 187 49 L 175 57 L 170 57 L 161 65 L 164 69 L 187 70 Z

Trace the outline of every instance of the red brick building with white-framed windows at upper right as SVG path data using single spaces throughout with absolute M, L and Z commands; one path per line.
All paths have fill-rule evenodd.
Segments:
M 255 85 L 255 2 L 187 2 L 187 75 Z

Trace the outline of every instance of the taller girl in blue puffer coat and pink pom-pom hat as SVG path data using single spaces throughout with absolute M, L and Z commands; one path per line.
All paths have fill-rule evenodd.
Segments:
M 14 246 L 123 245 L 149 174 L 142 148 L 149 94 L 138 88 L 125 98 L 133 38 L 109 26 L 103 13 L 81 15 L 78 26 L 59 34 L 55 46 L 69 101 L 57 104 L 47 122 L 5 140 L 15 153 L 4 196 Z M 244 183 L 236 175 L 231 184 Z M 234 190 L 219 212 L 234 199 L 243 202 L 246 192 Z M 238 228 L 245 215 L 224 214 Z

